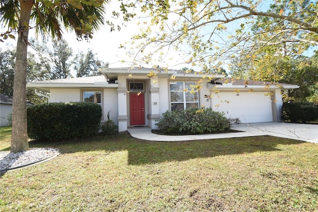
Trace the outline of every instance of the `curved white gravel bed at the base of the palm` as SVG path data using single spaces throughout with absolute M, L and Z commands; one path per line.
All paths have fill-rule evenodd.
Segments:
M 59 149 L 55 148 L 30 148 L 18 153 L 0 151 L 0 173 L 44 162 L 59 154 Z

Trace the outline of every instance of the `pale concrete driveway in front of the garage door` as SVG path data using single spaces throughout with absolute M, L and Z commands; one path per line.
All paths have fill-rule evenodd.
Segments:
M 263 134 L 318 143 L 318 124 L 263 122 L 236 124 L 232 129 L 254 135 Z

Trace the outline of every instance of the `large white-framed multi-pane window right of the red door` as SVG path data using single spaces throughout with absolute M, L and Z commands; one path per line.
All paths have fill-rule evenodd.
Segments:
M 170 82 L 171 111 L 199 107 L 199 92 L 192 91 L 195 82 Z

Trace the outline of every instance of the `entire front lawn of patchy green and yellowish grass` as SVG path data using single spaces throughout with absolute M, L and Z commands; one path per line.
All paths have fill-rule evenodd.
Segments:
M 120 133 L 29 144 L 61 155 L 5 173 L 0 211 L 318 211 L 313 143 L 271 136 L 152 142 Z

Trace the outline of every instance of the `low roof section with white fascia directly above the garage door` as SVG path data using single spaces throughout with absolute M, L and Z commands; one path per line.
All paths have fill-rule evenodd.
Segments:
M 253 80 L 237 80 L 232 78 L 218 79 L 214 82 L 209 83 L 209 88 L 217 86 L 220 90 L 227 89 L 298 89 L 298 85 L 286 84 L 286 83 L 270 83 L 264 81 L 253 81 Z

